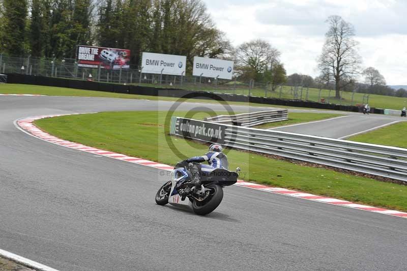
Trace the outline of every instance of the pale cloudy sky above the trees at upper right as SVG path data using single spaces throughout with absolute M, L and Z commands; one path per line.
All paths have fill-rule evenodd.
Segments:
M 407 0 L 203 0 L 234 45 L 265 39 L 281 51 L 287 74 L 318 75 L 330 15 L 355 26 L 363 67 L 388 85 L 407 85 Z

